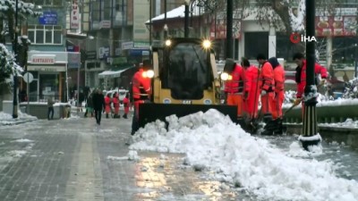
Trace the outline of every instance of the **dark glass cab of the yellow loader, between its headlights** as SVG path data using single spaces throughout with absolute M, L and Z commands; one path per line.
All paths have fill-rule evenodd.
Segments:
M 210 49 L 201 40 L 172 40 L 163 48 L 159 62 L 162 88 L 170 89 L 175 99 L 199 100 L 214 80 Z

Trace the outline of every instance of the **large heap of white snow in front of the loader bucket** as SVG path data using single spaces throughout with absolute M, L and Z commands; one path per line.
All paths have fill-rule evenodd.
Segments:
M 357 200 L 358 182 L 337 178 L 335 165 L 293 155 L 268 140 L 252 137 L 227 116 L 211 109 L 178 119 L 152 122 L 133 136 L 130 149 L 183 153 L 185 164 L 216 172 L 216 179 L 265 200 Z

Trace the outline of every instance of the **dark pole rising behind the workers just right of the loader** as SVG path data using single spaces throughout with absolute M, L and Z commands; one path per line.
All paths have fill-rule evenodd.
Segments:
M 226 4 L 226 59 L 233 58 L 233 0 L 227 0 Z

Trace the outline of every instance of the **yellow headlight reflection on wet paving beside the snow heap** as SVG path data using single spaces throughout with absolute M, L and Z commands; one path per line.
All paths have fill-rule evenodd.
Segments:
M 234 187 L 209 180 L 210 172 L 195 172 L 183 165 L 184 155 L 140 153 L 136 166 L 136 185 L 142 188 L 134 200 L 251 200 Z M 244 199 L 243 199 L 244 198 Z

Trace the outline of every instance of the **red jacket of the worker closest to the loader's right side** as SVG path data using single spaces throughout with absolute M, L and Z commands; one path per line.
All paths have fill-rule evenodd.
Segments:
M 243 92 L 243 67 L 235 64 L 234 71 L 230 75 L 232 79 L 225 82 L 224 91 L 230 94 Z

